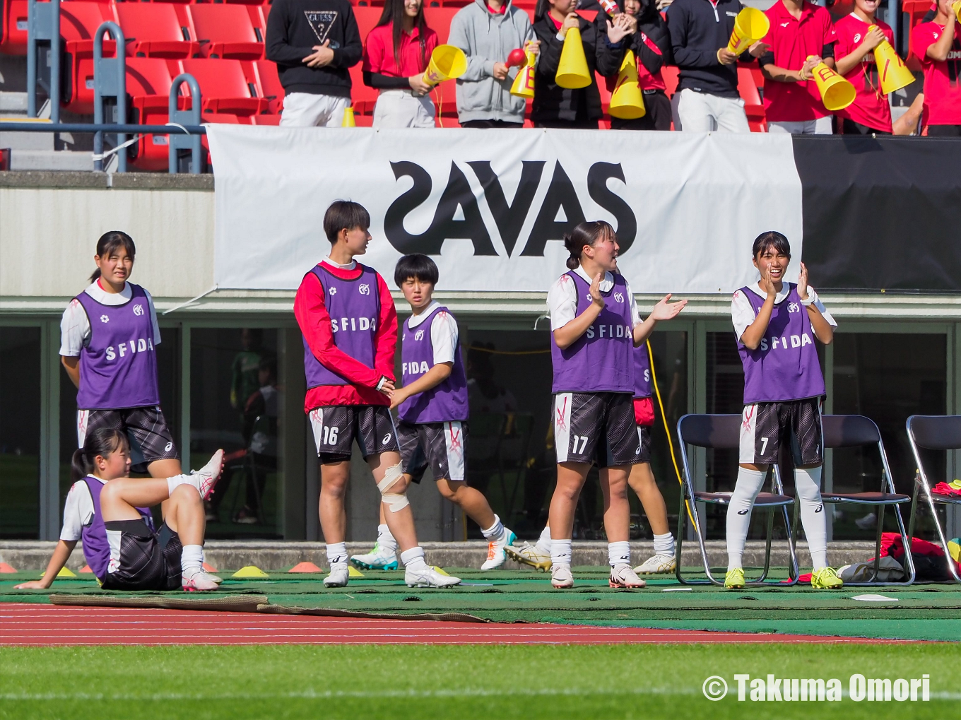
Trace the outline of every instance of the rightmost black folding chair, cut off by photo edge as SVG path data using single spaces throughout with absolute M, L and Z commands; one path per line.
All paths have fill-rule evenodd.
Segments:
M 927 499 L 927 507 L 934 518 L 934 527 L 938 531 L 938 540 L 941 547 L 945 550 L 945 558 L 948 563 L 948 570 L 955 583 L 961 583 L 958 576 L 957 567 L 948 549 L 948 540 L 945 538 L 944 528 L 938 520 L 937 506 L 939 505 L 961 505 L 961 497 L 957 495 L 942 495 L 931 490 L 931 482 L 927 479 L 924 472 L 924 463 L 921 461 L 921 454 L 918 448 L 928 450 L 956 450 L 961 448 L 961 416 L 959 415 L 911 415 L 907 419 L 907 440 L 911 443 L 911 452 L 914 453 L 915 462 L 918 463 L 918 472 L 914 476 L 914 492 L 912 493 L 911 519 L 908 522 L 908 537 L 914 535 L 914 516 L 918 509 L 918 490 L 924 489 L 924 497 Z M 911 546 L 904 546 L 904 554 L 910 558 Z

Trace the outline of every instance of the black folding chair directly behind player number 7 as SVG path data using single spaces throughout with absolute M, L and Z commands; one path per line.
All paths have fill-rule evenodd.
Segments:
M 691 477 L 691 468 L 687 459 L 687 446 L 693 445 L 701 448 L 714 449 L 737 449 L 740 444 L 741 416 L 740 415 L 684 415 L 678 420 L 678 441 L 681 449 L 680 459 L 683 467 L 683 489 L 680 493 L 680 507 L 678 509 L 678 544 L 677 544 L 677 566 L 675 575 L 678 583 L 683 584 L 715 584 L 723 585 L 711 575 L 710 563 L 707 560 L 707 549 L 704 547 L 704 534 L 701 528 L 701 520 L 698 516 L 698 503 L 705 505 L 729 505 L 730 492 L 700 492 L 694 489 L 694 482 Z M 787 585 L 798 582 L 800 572 L 798 570 L 798 557 L 794 547 L 794 536 L 792 534 L 791 518 L 788 517 L 787 506 L 794 504 L 794 498 L 784 494 L 784 488 L 780 482 L 780 475 L 775 471 L 772 473 L 773 492 L 760 492 L 754 501 L 755 508 L 762 508 L 768 511 L 768 534 L 767 546 L 764 554 L 764 570 L 756 580 L 745 583 L 746 585 Z M 680 570 L 680 548 L 684 537 L 684 517 L 687 514 L 685 505 L 690 503 L 691 517 L 694 521 L 694 529 L 698 535 L 698 544 L 701 547 L 701 559 L 704 566 L 704 574 L 707 580 L 686 580 Z M 768 581 L 768 571 L 771 568 L 771 540 L 774 534 L 775 510 L 781 509 L 784 519 L 784 531 L 787 534 L 788 552 L 791 555 L 791 566 L 788 568 L 790 581 Z

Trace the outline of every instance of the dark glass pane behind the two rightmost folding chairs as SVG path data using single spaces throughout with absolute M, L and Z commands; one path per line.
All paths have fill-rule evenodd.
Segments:
M 834 336 L 834 412 L 867 415 L 875 421 L 899 492 L 911 493 L 916 466 L 904 422 L 909 415 L 943 415 L 947 410 L 947 343 L 947 335 L 939 334 Z M 924 460 L 934 477 L 945 477 L 945 453 L 931 453 Z M 881 463 L 873 448 L 834 450 L 832 468 L 836 492 L 880 487 Z M 924 517 L 924 513 L 919 514 L 919 520 Z M 875 519 L 875 514 L 863 506 L 838 506 L 834 537 L 874 539 Z M 893 528 L 887 523 L 885 527 Z

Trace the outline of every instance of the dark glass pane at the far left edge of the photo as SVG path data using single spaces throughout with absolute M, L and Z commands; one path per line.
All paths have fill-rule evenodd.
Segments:
M 0 328 L 0 537 L 40 531 L 40 329 Z

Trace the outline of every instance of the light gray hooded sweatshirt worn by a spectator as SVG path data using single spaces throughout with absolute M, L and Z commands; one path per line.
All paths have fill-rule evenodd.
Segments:
M 484 0 L 461 8 L 451 21 L 448 43 L 467 55 L 467 72 L 457 78 L 457 116 L 468 120 L 524 122 L 524 98 L 510 94 L 520 68 L 511 67 L 506 80 L 494 79 L 494 63 L 506 62 L 507 54 L 535 39 L 527 12 L 509 0 L 506 12 L 487 10 Z

